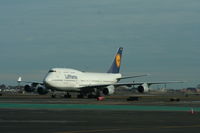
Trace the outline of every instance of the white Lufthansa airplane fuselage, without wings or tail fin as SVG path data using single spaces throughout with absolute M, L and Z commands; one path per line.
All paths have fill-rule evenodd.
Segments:
M 79 91 L 82 87 L 116 83 L 121 74 L 91 73 L 75 69 L 53 68 L 44 78 L 45 87 L 54 90 Z

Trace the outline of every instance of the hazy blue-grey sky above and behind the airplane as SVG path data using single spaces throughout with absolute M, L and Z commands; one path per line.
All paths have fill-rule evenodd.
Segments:
M 1 0 L 0 84 L 42 81 L 52 67 L 106 72 L 124 47 L 135 81 L 200 83 L 199 0 Z

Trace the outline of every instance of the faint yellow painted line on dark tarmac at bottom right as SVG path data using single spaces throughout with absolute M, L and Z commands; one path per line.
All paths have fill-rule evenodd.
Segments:
M 136 128 L 124 128 L 124 129 L 92 129 L 92 130 L 77 130 L 77 131 L 63 131 L 57 133 L 95 133 L 95 132 L 106 132 L 106 131 L 129 131 L 129 130 L 152 130 L 152 129 L 178 129 L 178 128 L 195 128 L 200 125 L 188 125 L 188 126 L 160 126 L 160 127 L 136 127 Z

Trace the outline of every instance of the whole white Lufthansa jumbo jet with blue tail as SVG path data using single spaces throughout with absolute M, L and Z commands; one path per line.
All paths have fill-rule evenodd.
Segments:
M 131 86 L 137 89 L 138 92 L 143 93 L 148 92 L 149 86 L 152 84 L 177 83 L 176 81 L 155 83 L 119 83 L 121 79 L 146 76 L 137 75 L 122 77 L 119 73 L 122 51 L 123 48 L 120 47 L 107 73 L 82 72 L 70 68 L 52 68 L 49 70 L 42 83 L 22 81 L 21 77 L 19 77 L 18 82 L 29 83 L 24 86 L 24 90 L 27 92 L 37 91 L 39 94 L 47 94 L 49 91 L 63 91 L 66 93 L 66 98 L 71 97 L 71 92 L 77 92 L 78 98 L 83 98 L 84 96 L 87 96 L 88 98 L 99 97 L 101 94 L 111 95 L 115 92 L 115 88 L 119 86 Z M 55 96 L 56 93 L 53 93 L 52 97 Z

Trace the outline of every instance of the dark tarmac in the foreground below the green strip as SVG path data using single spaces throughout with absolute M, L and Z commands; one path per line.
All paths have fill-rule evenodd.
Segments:
M 200 115 L 188 112 L 1 109 L 2 133 L 198 133 Z

